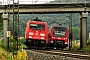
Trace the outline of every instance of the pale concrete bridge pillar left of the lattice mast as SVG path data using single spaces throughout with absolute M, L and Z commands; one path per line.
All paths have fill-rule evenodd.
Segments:
M 8 31 L 8 13 L 3 13 L 3 32 L 4 32 L 4 45 L 8 47 L 8 38 L 7 38 L 7 31 Z

